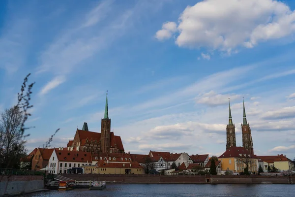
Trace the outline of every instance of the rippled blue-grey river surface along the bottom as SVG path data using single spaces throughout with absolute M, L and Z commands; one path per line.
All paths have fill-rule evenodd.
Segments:
M 103 191 L 50 190 L 26 197 L 295 197 L 295 185 L 107 183 Z

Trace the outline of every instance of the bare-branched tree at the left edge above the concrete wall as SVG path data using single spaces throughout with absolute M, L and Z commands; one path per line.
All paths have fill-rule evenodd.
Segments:
M 6 109 L 0 116 L 0 167 L 19 168 L 20 159 L 26 157 L 23 119 L 18 106 Z

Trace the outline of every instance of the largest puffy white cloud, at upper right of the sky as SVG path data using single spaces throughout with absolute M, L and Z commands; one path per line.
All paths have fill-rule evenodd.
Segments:
M 295 12 L 277 0 L 204 0 L 181 13 L 176 44 L 231 53 L 291 35 L 294 22 Z

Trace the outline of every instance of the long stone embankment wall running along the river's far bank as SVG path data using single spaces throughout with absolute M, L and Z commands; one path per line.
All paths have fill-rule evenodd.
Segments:
M 206 176 L 206 175 L 120 175 L 120 174 L 63 174 L 77 180 L 96 180 L 113 183 L 212 183 L 212 184 L 294 184 L 295 176 Z

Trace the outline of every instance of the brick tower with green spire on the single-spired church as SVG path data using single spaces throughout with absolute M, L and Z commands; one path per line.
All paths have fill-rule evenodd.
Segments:
M 106 107 L 104 118 L 101 119 L 101 152 L 109 153 L 110 151 L 110 143 L 111 143 L 111 119 L 109 119 L 109 111 L 108 111 L 108 92 L 106 99 Z

